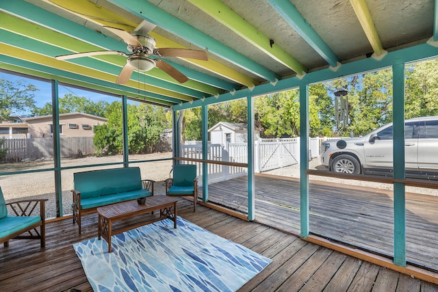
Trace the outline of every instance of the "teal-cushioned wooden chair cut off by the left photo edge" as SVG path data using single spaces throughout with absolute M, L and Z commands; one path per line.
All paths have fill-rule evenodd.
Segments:
M 9 246 L 10 239 L 39 239 L 41 247 L 46 246 L 45 201 L 47 199 L 18 200 L 6 204 L 0 187 L 0 243 L 5 248 Z M 40 212 L 33 215 L 38 210 L 38 204 Z M 8 215 L 8 206 L 14 215 Z

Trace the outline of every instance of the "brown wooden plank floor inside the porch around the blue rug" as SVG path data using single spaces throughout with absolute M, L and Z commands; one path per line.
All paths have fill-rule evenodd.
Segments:
M 272 263 L 240 291 L 438 291 L 411 278 L 275 228 L 246 222 L 180 198 L 179 215 L 212 233 L 272 258 Z M 83 217 L 83 233 L 71 220 L 47 224 L 47 247 L 37 241 L 11 241 L 0 247 L 0 291 L 91 291 L 73 243 L 96 237 L 96 214 Z

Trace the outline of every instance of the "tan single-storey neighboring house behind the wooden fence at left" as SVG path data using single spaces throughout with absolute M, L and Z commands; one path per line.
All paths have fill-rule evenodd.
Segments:
M 52 116 L 23 118 L 29 129 L 28 137 L 41 138 L 53 136 Z M 60 114 L 60 136 L 93 137 L 93 127 L 104 124 L 106 118 L 83 113 Z

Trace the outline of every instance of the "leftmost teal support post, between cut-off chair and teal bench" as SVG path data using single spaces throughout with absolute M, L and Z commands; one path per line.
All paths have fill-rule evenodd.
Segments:
M 60 109 L 58 82 L 52 80 L 52 128 L 53 128 L 53 168 L 55 168 L 55 202 L 56 217 L 62 217 L 61 185 L 61 145 L 60 145 Z

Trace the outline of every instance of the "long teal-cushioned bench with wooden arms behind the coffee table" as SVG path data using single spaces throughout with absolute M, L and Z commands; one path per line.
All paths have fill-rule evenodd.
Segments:
M 73 174 L 73 224 L 97 207 L 153 196 L 155 181 L 142 180 L 140 168 L 112 168 Z

